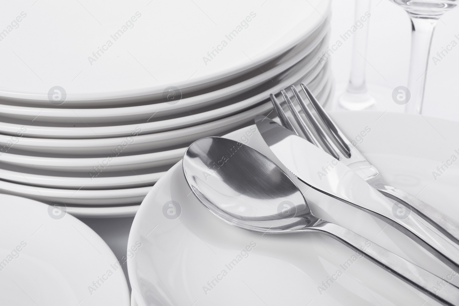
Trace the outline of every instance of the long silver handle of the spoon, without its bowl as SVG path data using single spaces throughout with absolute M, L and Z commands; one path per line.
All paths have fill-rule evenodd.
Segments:
M 375 262 L 443 305 L 459 305 L 459 288 L 448 283 L 448 280 L 437 277 L 347 228 L 319 220 L 308 230 L 327 234 L 351 249 L 362 252 L 367 259 Z

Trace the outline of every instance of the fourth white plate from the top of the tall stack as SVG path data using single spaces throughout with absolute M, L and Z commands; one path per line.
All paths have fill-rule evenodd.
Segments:
M 283 82 L 279 83 L 275 89 L 269 89 L 266 92 L 259 94 L 250 99 L 266 99 L 272 92 L 277 92 L 278 89 L 281 89 L 285 86 L 301 82 L 304 79 L 304 74 L 300 73 L 295 78 L 286 79 Z M 327 74 L 325 73 L 325 76 Z M 319 80 L 320 83 L 318 86 L 325 86 L 325 82 L 328 81 L 328 78 L 325 77 L 324 80 Z M 322 87 L 323 88 L 323 87 Z M 328 96 L 328 92 L 320 92 L 320 89 L 316 92 L 313 90 L 313 93 L 318 99 L 322 98 L 322 95 L 325 97 Z M 329 87 L 326 87 L 329 89 Z M 259 97 L 258 97 L 259 96 Z M 94 155 L 94 154 L 112 154 L 112 150 L 115 150 L 122 143 L 129 143 L 123 148 L 123 152 L 136 152 L 142 150 L 156 150 L 167 148 L 168 146 L 177 146 L 180 144 L 185 144 L 186 142 L 192 141 L 194 139 L 199 139 L 209 135 L 209 131 L 212 131 L 213 134 L 221 134 L 222 132 L 227 132 L 232 128 L 240 126 L 244 123 L 248 123 L 258 114 L 262 114 L 268 111 L 271 108 L 271 103 L 266 102 L 260 106 L 253 107 L 247 111 L 243 111 L 239 114 L 225 117 L 219 120 L 212 122 L 202 123 L 192 127 L 181 128 L 166 132 L 159 132 L 155 134 L 143 134 L 139 135 L 141 128 L 139 125 L 133 126 L 133 129 L 130 131 L 130 134 L 136 134 L 137 136 L 131 137 L 118 137 L 118 138 L 97 138 L 97 139 L 37 139 L 32 137 L 26 137 L 27 131 L 19 138 L 19 141 L 12 142 L 12 137 L 10 135 L 0 135 L 0 146 L 5 146 L 9 143 L 14 144 L 14 149 L 20 149 L 24 151 L 31 152 L 43 152 L 43 153 L 55 153 L 55 154 L 73 154 L 73 155 Z M 93 132 L 93 134 L 95 134 Z M 95 134 L 96 135 L 96 134 Z M 129 139 L 128 139 L 129 138 Z M 133 141 L 131 139 L 134 139 Z M 132 142 L 131 142 L 132 141 Z M 13 145 L 11 145 L 13 147 Z

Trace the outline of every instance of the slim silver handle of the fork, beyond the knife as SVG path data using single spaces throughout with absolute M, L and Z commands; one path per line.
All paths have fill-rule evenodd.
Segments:
M 403 204 L 408 204 L 408 207 L 425 221 L 430 223 L 434 228 L 437 228 L 442 234 L 459 245 L 459 223 L 448 217 L 441 211 L 410 195 L 409 193 L 396 187 L 384 185 L 377 186 L 376 189 L 386 197 L 393 200 L 401 200 Z

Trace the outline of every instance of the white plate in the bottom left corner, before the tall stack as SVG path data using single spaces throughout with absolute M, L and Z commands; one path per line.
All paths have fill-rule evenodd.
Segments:
M 1 305 L 129 306 L 123 269 L 91 228 L 46 204 L 1 197 Z

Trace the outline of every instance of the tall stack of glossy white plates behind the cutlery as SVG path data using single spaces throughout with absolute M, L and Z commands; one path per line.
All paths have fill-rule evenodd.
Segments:
M 303 82 L 326 103 L 330 1 L 262 2 L 9 3 L 0 191 L 129 215 L 187 145 L 269 114 L 270 93 Z

